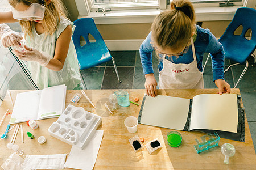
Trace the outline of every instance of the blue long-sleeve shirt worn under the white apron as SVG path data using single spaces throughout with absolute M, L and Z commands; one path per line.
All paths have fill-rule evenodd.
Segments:
M 210 53 L 212 57 L 213 81 L 217 79 L 224 80 L 224 48 L 220 42 L 217 41 L 216 37 L 214 37 L 214 35 L 209 31 L 209 29 L 203 29 L 196 25 L 196 40 L 194 40 L 194 45 L 196 51 L 197 68 L 199 71 L 203 71 L 202 61 L 204 53 Z M 153 51 L 154 46 L 151 41 L 150 32 L 139 48 L 144 75 L 154 73 L 152 66 Z M 189 46 L 188 52 L 184 53 L 183 56 L 166 56 L 166 59 L 172 63 L 191 63 L 193 61 L 192 48 Z M 162 69 L 163 59 L 160 58 L 158 70 L 161 71 Z

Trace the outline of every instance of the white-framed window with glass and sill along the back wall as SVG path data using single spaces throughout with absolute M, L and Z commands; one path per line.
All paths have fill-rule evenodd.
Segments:
M 75 0 L 79 18 L 92 17 L 97 24 L 152 22 L 157 14 L 170 8 L 172 0 Z M 231 20 L 239 7 L 256 5 L 255 0 L 191 0 L 197 19 Z M 222 3 L 224 7 L 219 7 Z M 226 3 L 226 4 L 225 4 Z M 234 6 L 230 6 L 233 3 Z M 225 7 L 228 5 L 228 7 Z M 105 12 L 102 14 L 102 12 Z M 138 17 L 135 17 L 138 16 Z M 123 20 L 123 18 L 128 18 Z

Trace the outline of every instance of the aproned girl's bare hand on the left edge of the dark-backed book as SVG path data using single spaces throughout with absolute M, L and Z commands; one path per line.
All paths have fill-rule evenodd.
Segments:
M 150 95 L 151 97 L 157 96 L 158 90 L 156 89 L 156 86 L 158 86 L 158 82 L 156 82 L 154 74 L 153 73 L 146 74 L 145 78 L 146 78 L 145 88 L 146 88 L 147 95 Z

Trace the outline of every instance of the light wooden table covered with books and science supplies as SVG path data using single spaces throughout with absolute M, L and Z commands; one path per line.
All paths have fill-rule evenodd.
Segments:
M 92 105 L 82 97 L 78 104 L 73 104 L 72 96 L 79 92 L 79 90 L 67 90 L 66 107 L 68 104 L 83 107 L 86 111 L 92 112 L 102 117 L 102 124 L 98 130 L 104 130 L 104 137 L 102 139 L 100 151 L 94 169 L 255 169 L 256 155 L 251 139 L 247 118 L 245 118 L 245 142 L 232 141 L 229 139 L 222 139 L 217 147 L 210 151 L 197 154 L 195 148 L 195 139 L 200 139 L 204 133 L 197 131 L 179 131 L 183 137 L 183 142 L 180 147 L 170 147 L 166 140 L 166 135 L 171 129 L 158 128 L 154 126 L 147 126 L 139 124 L 138 131 L 135 134 L 128 133 L 123 121 L 127 116 L 138 117 L 140 106 L 131 104 L 130 107 L 117 107 L 113 111 L 112 116 L 106 108 L 104 103 L 108 100 L 110 94 L 115 90 L 85 90 L 88 97 L 96 105 L 94 109 Z M 129 92 L 130 100 L 135 97 L 139 98 L 139 104 L 143 99 L 144 90 L 127 90 Z M 217 89 L 204 90 L 158 90 L 159 95 L 167 95 L 174 97 L 183 97 L 192 99 L 193 96 L 199 94 L 216 93 Z M 13 100 L 16 99 L 16 94 L 24 91 L 11 91 Z M 232 89 L 233 94 L 240 94 L 238 89 Z M 108 103 L 109 104 L 109 103 Z M 13 107 L 10 103 L 8 95 L 6 95 L 0 107 L 0 117 L 7 109 L 12 111 Z M 1 134 L 4 133 L 6 126 L 10 120 L 10 115 L 5 118 L 0 127 Z M 23 123 L 24 133 L 30 131 L 34 134 L 35 139 L 30 139 L 24 135 L 24 143 L 21 143 L 20 130 L 16 138 L 15 144 L 19 145 L 29 155 L 40 154 L 65 154 L 71 150 L 71 145 L 60 141 L 48 134 L 49 126 L 55 122 L 57 118 L 50 118 L 38 121 L 39 129 L 32 130 Z M 177 130 L 178 131 L 178 130 Z M 6 145 L 9 143 L 14 130 L 9 132 L 9 137 L 0 141 L 0 164 L 2 164 L 12 153 L 12 150 L 7 149 Z M 40 145 L 36 140 L 41 135 L 46 137 L 46 143 Z M 146 148 L 142 152 L 135 154 L 128 139 L 138 135 L 145 139 L 144 144 L 152 139 L 158 138 L 163 147 L 156 150 L 151 155 L 148 154 Z M 224 164 L 224 155 L 221 154 L 220 146 L 224 143 L 231 143 L 236 148 L 236 154 L 229 159 L 229 164 Z M 68 168 L 66 168 L 68 169 Z

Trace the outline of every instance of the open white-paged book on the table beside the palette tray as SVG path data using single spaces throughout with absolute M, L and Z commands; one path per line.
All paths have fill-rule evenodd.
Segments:
M 65 108 L 66 89 L 63 84 L 17 94 L 10 124 L 59 117 Z

